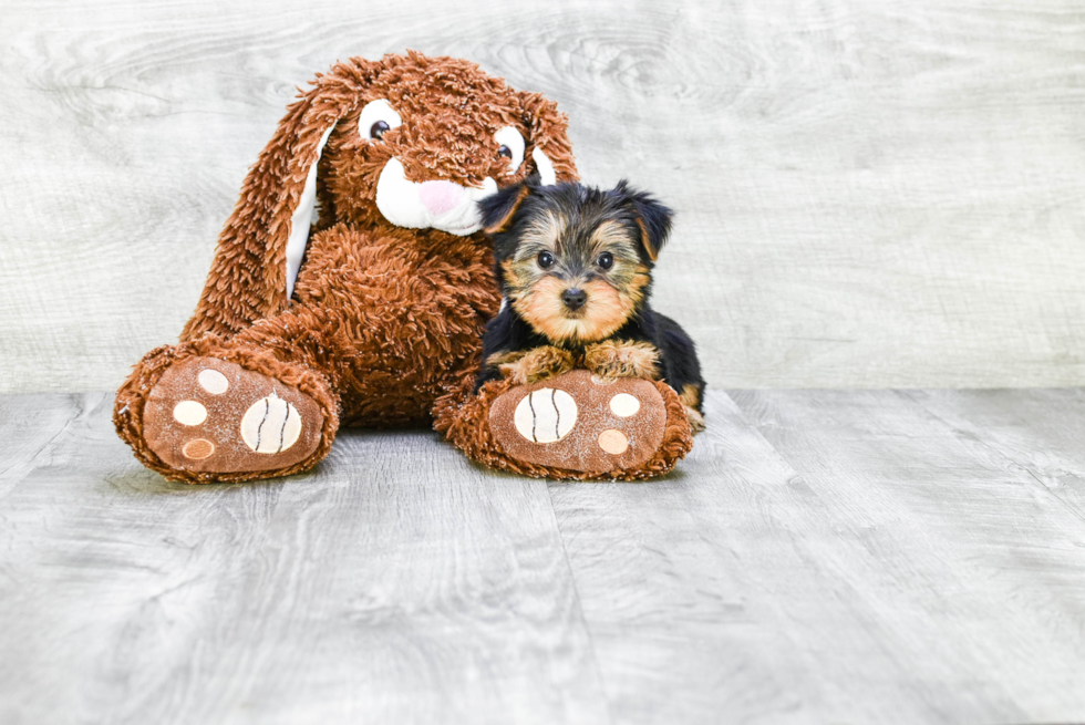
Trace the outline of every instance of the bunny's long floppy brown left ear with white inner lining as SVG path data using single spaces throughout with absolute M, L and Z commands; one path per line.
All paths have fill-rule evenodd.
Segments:
M 289 304 L 309 240 L 320 154 L 335 122 L 358 104 L 375 65 L 361 59 L 338 63 L 287 108 L 219 235 L 182 342 L 207 332 L 232 335 Z

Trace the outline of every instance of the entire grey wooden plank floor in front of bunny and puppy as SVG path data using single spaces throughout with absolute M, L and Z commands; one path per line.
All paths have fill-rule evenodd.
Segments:
M 715 392 L 668 479 L 434 434 L 168 484 L 0 397 L 0 722 L 1085 719 L 1085 392 Z

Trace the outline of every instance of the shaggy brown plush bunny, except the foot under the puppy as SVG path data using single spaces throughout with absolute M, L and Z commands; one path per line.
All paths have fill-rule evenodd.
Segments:
M 499 304 L 475 203 L 533 173 L 577 177 L 565 116 L 473 63 L 318 75 L 245 179 L 180 343 L 121 387 L 121 437 L 167 478 L 245 480 L 311 467 L 341 424 L 427 423 Z

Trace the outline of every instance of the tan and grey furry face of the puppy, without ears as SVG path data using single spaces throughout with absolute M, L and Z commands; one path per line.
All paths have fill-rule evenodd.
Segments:
M 590 225 L 545 210 L 527 225 L 516 252 L 503 265 L 509 302 L 554 342 L 609 338 L 633 314 L 651 281 L 640 261 L 637 234 L 613 219 Z M 586 294 L 582 307 L 566 304 L 562 294 L 568 290 Z

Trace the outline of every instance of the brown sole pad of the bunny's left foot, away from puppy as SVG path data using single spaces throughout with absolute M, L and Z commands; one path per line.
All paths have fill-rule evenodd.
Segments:
M 323 415 L 313 398 L 216 358 L 172 365 L 147 396 L 147 447 L 172 468 L 231 474 L 289 468 L 316 453 Z

